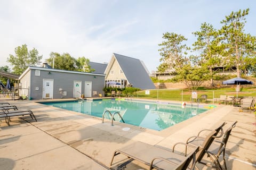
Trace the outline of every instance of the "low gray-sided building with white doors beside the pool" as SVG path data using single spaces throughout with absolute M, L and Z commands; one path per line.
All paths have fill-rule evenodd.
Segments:
M 104 95 L 105 74 L 29 66 L 19 77 L 20 95 L 29 99 L 61 99 Z

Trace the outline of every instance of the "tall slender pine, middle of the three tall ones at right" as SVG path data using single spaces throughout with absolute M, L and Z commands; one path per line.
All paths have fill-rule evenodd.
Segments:
M 215 74 L 213 67 L 219 66 L 222 51 L 222 46 L 219 45 L 219 33 L 213 28 L 213 25 L 204 22 L 201 24 L 201 30 L 193 32 L 193 34 L 197 37 L 197 41 L 193 44 L 193 50 L 199 54 L 199 56 L 193 57 L 194 62 L 209 69 L 211 85 L 213 86 Z

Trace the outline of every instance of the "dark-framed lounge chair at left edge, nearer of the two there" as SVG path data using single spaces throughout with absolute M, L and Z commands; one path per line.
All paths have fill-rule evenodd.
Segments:
M 4 114 L 0 114 L 0 118 L 5 118 L 5 122 L 10 126 L 10 117 L 15 117 L 15 116 L 25 116 L 25 115 L 30 115 L 30 117 L 32 119 L 35 119 L 35 121 L 37 122 L 36 120 L 36 117 L 35 115 L 33 114 L 32 111 L 20 111 L 20 110 L 15 110 L 15 111 L 7 111 L 7 110 L 4 110 L 3 111 Z

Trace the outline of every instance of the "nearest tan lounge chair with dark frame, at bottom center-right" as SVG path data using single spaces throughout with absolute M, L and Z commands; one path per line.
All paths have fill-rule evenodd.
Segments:
M 225 123 L 221 124 L 218 128 L 222 129 L 222 126 L 224 124 Z M 217 134 L 218 132 L 213 130 L 207 135 L 202 145 L 199 146 L 179 142 L 174 145 L 172 151 L 165 150 L 157 146 L 151 146 L 148 145 L 147 143 L 134 142 L 129 146 L 116 150 L 114 152 L 110 166 L 113 165 L 113 160 L 115 156 L 123 154 L 130 159 L 127 160 L 125 163 L 119 165 L 117 169 L 121 169 L 123 166 L 125 166 L 127 163 L 130 163 L 132 160 L 137 160 L 145 165 L 148 165 L 150 167 L 149 169 L 186 169 L 191 162 L 191 158 L 188 158 L 191 156 L 191 153 L 190 155 L 187 156 L 187 147 L 191 147 L 195 149 L 193 150 L 193 163 L 190 166 L 190 169 L 194 169 L 195 164 L 197 162 L 201 162 L 201 160 L 203 159 L 204 155 L 206 154 L 206 151 L 211 146 L 214 137 L 217 136 Z M 174 152 L 175 146 L 179 144 L 186 146 L 185 156 L 176 154 Z

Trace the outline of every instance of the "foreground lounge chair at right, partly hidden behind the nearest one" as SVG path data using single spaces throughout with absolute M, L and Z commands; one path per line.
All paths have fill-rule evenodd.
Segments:
M 206 166 L 210 166 L 210 167 L 215 168 L 215 169 L 222 169 L 222 166 L 220 165 L 220 161 L 219 161 L 219 157 L 222 154 L 224 166 L 225 166 L 225 169 L 227 169 L 226 159 L 225 159 L 226 158 L 226 156 L 225 156 L 226 145 L 227 145 L 231 130 L 233 128 L 235 128 L 236 123 L 237 123 L 237 121 L 232 123 L 231 126 L 225 131 L 221 141 L 215 139 L 213 141 L 212 145 L 210 146 L 210 148 L 206 151 L 207 156 L 210 157 L 210 159 L 212 160 L 212 162 L 214 163 L 215 166 L 213 166 L 211 164 L 208 164 L 208 163 L 205 163 L 205 162 L 202 162 L 202 161 L 199 162 L 199 163 L 204 164 Z M 207 130 L 203 130 L 203 131 L 207 131 Z M 189 143 L 190 145 L 194 145 L 194 146 L 201 145 L 204 142 L 205 138 L 200 137 L 199 133 L 198 133 L 197 136 L 190 137 L 187 140 L 187 143 Z

